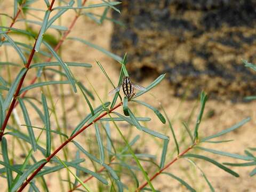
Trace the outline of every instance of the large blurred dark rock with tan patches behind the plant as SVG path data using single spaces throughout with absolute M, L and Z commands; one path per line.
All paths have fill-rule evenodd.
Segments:
M 122 0 L 113 18 L 112 51 L 127 52 L 140 81 L 167 73 L 174 94 L 241 101 L 256 94 L 256 0 Z

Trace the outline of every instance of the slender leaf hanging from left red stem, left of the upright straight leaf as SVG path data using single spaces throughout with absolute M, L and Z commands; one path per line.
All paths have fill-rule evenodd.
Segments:
M 30 121 L 30 118 L 28 115 L 28 111 L 27 111 L 27 108 L 26 108 L 23 100 L 21 98 L 18 98 L 18 101 L 20 103 L 20 107 L 22 109 L 23 117 L 24 117 L 26 124 L 31 126 L 31 121 Z M 31 141 L 31 146 L 32 146 L 33 150 L 36 151 L 36 138 L 35 138 L 34 131 L 31 127 L 27 127 L 27 129 L 28 129 L 28 134 L 29 134 L 29 138 Z

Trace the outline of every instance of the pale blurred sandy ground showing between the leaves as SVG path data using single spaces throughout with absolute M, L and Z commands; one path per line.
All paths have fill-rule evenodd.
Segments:
M 12 8 L 8 5 L 7 2 L 5 1 L 1 2 L 0 12 L 12 13 Z M 42 2 L 43 1 L 40 1 L 37 4 L 39 5 Z M 69 26 L 69 23 L 71 22 L 73 17 L 74 17 L 73 12 L 67 12 L 62 19 L 63 25 Z M 19 27 L 19 26 L 22 26 L 22 25 L 20 23 L 18 25 L 15 25 L 15 27 Z M 75 25 L 75 28 L 70 33 L 69 37 L 83 38 L 105 48 L 106 50 L 109 50 L 111 30 L 112 30 L 111 22 L 106 21 L 103 23 L 103 25 L 99 26 L 95 24 L 93 21 L 91 21 L 90 19 L 81 17 L 78 19 Z M 12 54 L 11 51 L 12 49 L 9 49 L 9 54 Z M 1 61 L 5 60 L 4 58 L 2 59 L 3 55 L 4 55 L 3 48 L 0 47 Z M 86 46 L 79 42 L 73 42 L 70 40 L 65 41 L 65 43 L 62 46 L 62 59 L 64 61 L 91 63 L 93 65 L 91 69 L 72 68 L 72 71 L 79 81 L 82 81 L 86 87 L 90 88 L 90 84 L 86 80 L 86 77 L 89 78 L 91 83 L 93 84 L 95 89 L 98 90 L 99 94 L 101 95 L 101 98 L 104 101 L 111 100 L 111 98 L 109 98 L 107 95 L 107 92 L 111 90 L 111 85 L 107 81 L 106 77 L 101 73 L 99 67 L 97 66 L 97 63 L 95 63 L 95 59 L 99 60 L 102 63 L 102 66 L 105 68 L 105 70 L 109 74 L 112 81 L 117 83 L 118 76 L 119 76 L 119 64 L 116 61 L 107 57 L 105 54 L 95 49 L 92 49 L 89 46 Z M 18 60 L 17 58 L 17 55 L 12 55 L 12 57 L 10 57 L 10 60 L 14 62 L 20 62 L 20 60 Z M 1 73 L 2 73 L 1 75 L 3 75 L 3 71 L 4 70 L 1 70 Z M 28 73 L 28 78 L 26 78 L 25 84 L 28 84 L 29 79 L 34 75 L 35 75 L 35 71 L 30 70 Z M 14 76 L 15 75 L 13 75 L 13 77 Z M 53 78 L 58 79 L 59 77 L 54 76 Z M 154 80 L 154 77 L 148 78 L 145 81 L 143 81 L 141 85 L 147 86 L 153 80 Z M 89 109 L 88 107 L 85 107 L 84 105 L 85 102 L 83 101 L 83 97 L 81 95 L 76 95 L 75 98 L 71 97 L 69 86 L 65 86 L 65 88 L 66 88 L 65 92 L 68 98 L 68 102 L 66 103 L 67 108 L 72 107 L 74 103 L 77 102 L 79 105 L 79 111 L 81 112 L 82 116 L 88 113 Z M 56 87 L 53 86 L 52 91 L 56 96 L 54 98 L 54 101 L 57 102 L 57 110 L 60 111 L 61 105 L 59 102 L 60 97 L 58 95 L 59 90 L 57 90 Z M 195 106 L 196 101 L 188 101 L 186 99 L 181 100 L 180 98 L 174 98 L 172 96 L 172 87 L 165 80 L 159 86 L 151 90 L 150 93 L 154 94 L 155 97 L 158 98 L 158 100 L 162 103 L 163 107 L 167 111 L 168 116 L 170 117 L 170 119 L 172 119 L 172 124 L 175 130 L 175 133 L 177 134 L 177 138 L 181 140 L 182 132 L 184 132 L 184 127 L 182 126 L 181 122 L 187 121 L 191 113 L 191 110 Z M 30 96 L 39 96 L 39 94 L 40 94 L 39 91 L 31 91 L 29 93 Z M 150 94 L 143 95 L 139 99 L 142 101 L 146 101 L 155 107 L 159 107 L 158 101 L 156 101 Z M 95 102 L 93 102 L 93 105 L 94 106 L 100 105 L 99 99 L 96 99 Z M 246 149 L 247 147 L 255 147 L 255 142 L 253 142 L 256 140 L 255 106 L 256 106 L 256 102 L 231 103 L 230 101 L 219 102 L 215 100 L 209 100 L 206 103 L 205 114 L 209 114 L 212 111 L 214 111 L 214 115 L 210 117 L 207 117 L 207 115 L 204 116 L 203 121 L 199 128 L 199 135 L 201 137 L 211 135 L 213 133 L 217 133 L 223 129 L 227 129 L 231 125 L 234 125 L 235 123 L 241 121 L 246 117 L 251 117 L 252 120 L 246 125 L 244 125 L 241 129 L 221 137 L 221 140 L 234 139 L 235 141 L 224 143 L 222 145 L 203 144 L 202 146 L 212 148 L 212 149 L 228 151 L 230 153 L 238 153 L 238 154 L 243 154 L 244 149 Z M 171 152 L 173 151 L 173 148 L 174 148 L 174 142 L 171 137 L 171 132 L 168 125 L 167 124 L 163 125 L 159 123 L 154 113 L 146 110 L 145 108 L 141 108 L 137 105 L 133 105 L 133 109 L 137 111 L 138 116 L 149 116 L 152 119 L 150 123 L 146 124 L 150 129 L 159 131 L 162 133 L 166 133 L 167 135 L 170 136 L 171 138 L 170 145 L 169 145 L 170 154 L 167 155 L 167 159 L 166 159 L 167 162 L 170 162 L 171 159 L 173 158 L 171 155 Z M 194 128 L 198 110 L 199 110 L 199 106 L 196 108 L 195 114 L 192 117 L 190 129 Z M 20 113 L 21 113 L 20 109 L 18 108 L 18 114 Z M 76 126 L 77 122 L 79 121 L 79 117 L 77 116 L 77 113 L 74 110 L 70 110 L 68 112 L 68 117 L 69 117 L 68 128 L 69 128 L 69 131 L 71 132 L 72 129 L 74 129 L 74 127 Z M 36 117 L 31 117 L 31 119 L 35 124 L 37 124 Z M 126 127 L 122 126 L 124 125 L 122 123 L 120 125 L 122 127 L 122 131 L 124 132 L 125 136 L 128 137 L 129 135 L 127 134 L 129 134 L 129 130 L 126 129 L 127 126 Z M 54 126 L 55 124 L 53 122 L 52 123 L 53 129 L 54 129 Z M 111 126 L 111 129 L 113 129 L 113 138 L 115 138 L 116 140 L 121 140 L 119 135 L 114 131 L 114 126 Z M 90 134 L 90 133 L 92 134 L 94 130 L 91 129 L 87 131 L 88 133 L 86 134 Z M 159 162 L 159 158 L 161 156 L 161 150 L 159 150 L 157 145 L 153 145 L 152 143 L 159 143 L 161 142 L 161 140 L 156 141 L 155 139 L 148 137 L 145 133 L 141 133 L 137 131 L 133 127 L 132 135 L 136 135 L 136 134 L 141 135 L 140 145 L 137 145 L 137 149 L 141 153 L 149 153 L 149 154 L 157 155 L 157 158 L 158 158 L 157 161 Z M 77 141 L 83 143 L 84 139 L 85 139 L 84 135 L 81 135 L 81 137 L 77 138 Z M 189 140 L 189 138 L 187 138 L 187 140 Z M 92 141 L 92 142 L 95 142 L 95 141 Z M 58 139 L 55 142 L 55 146 L 58 146 Z M 186 149 L 186 145 L 181 145 L 180 148 L 182 151 Z M 70 151 L 73 152 L 73 148 L 71 146 L 70 146 Z M 22 151 L 15 150 L 15 153 L 20 154 L 22 153 Z M 195 153 L 199 153 L 199 151 L 195 151 Z M 74 156 L 74 154 L 75 153 L 71 153 L 70 155 Z M 220 156 L 212 155 L 209 153 L 208 154 L 201 153 L 201 154 L 205 154 L 209 157 L 214 157 L 214 159 L 216 159 L 220 163 L 242 162 L 242 161 L 236 161 L 228 157 L 220 157 Z M 207 178 L 211 181 L 216 191 L 254 191 L 255 190 L 256 177 L 253 177 L 253 178 L 249 177 L 249 173 L 252 170 L 252 167 L 245 167 L 245 168 L 235 167 L 233 170 L 239 173 L 240 175 L 240 178 L 235 178 L 210 163 L 197 161 L 197 165 L 200 166 L 201 169 L 206 173 Z M 145 164 L 145 166 L 147 167 L 148 164 Z M 183 171 L 180 171 L 180 170 L 183 170 Z M 155 170 L 148 170 L 148 171 L 149 171 L 149 174 L 153 174 Z M 177 176 L 185 179 L 187 182 L 191 184 L 191 186 L 195 187 L 197 191 L 210 191 L 209 188 L 206 186 L 205 181 L 203 180 L 198 170 L 195 170 L 193 166 L 191 166 L 191 164 L 189 164 L 185 159 L 180 159 L 178 162 L 173 164 L 173 166 L 169 167 L 169 169 L 167 169 L 166 171 L 176 174 Z M 50 186 L 51 191 L 60 190 L 57 179 L 58 179 L 57 174 L 51 174 L 46 177 L 47 184 Z M 89 183 L 91 187 L 95 185 L 94 181 L 91 181 L 91 184 Z M 127 180 L 127 185 L 129 185 L 129 182 L 131 181 L 132 180 Z M 0 183 L 1 183 L 1 186 L 2 184 L 6 186 L 5 184 L 6 180 L 4 180 L 3 178 L 0 178 Z M 181 187 L 177 181 L 167 177 L 166 175 L 161 175 L 160 177 L 158 177 L 156 180 L 153 181 L 153 184 L 155 188 L 160 191 L 186 191 L 185 188 Z M 130 190 L 131 189 L 129 189 L 129 191 Z

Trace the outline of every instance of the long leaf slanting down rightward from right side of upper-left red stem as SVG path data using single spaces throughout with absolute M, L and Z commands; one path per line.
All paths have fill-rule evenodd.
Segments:
M 53 56 L 55 57 L 55 59 L 57 59 L 61 65 L 61 67 L 63 68 L 63 70 L 65 71 L 65 74 L 68 77 L 69 82 L 71 83 L 71 85 L 73 86 L 73 90 L 76 93 L 77 89 L 76 89 L 76 82 L 75 82 L 75 77 L 74 75 L 71 73 L 70 69 L 68 68 L 67 64 L 65 62 L 62 61 L 62 59 L 59 57 L 59 55 L 52 49 L 51 45 L 49 45 L 48 43 L 46 43 L 45 41 L 43 41 L 43 44 L 45 44 L 45 46 L 52 52 Z

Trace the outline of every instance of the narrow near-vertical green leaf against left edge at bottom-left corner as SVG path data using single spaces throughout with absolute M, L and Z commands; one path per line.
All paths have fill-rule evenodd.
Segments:
M 2 156 L 3 156 L 3 160 L 4 163 L 9 164 L 10 166 L 12 166 L 10 164 L 10 160 L 9 160 L 9 156 L 8 156 L 8 150 L 7 150 L 7 141 L 6 139 L 3 137 L 2 139 Z M 10 189 L 10 187 L 12 186 L 12 170 L 8 169 L 6 167 L 6 176 L 7 176 L 7 184 L 8 184 L 8 188 Z

